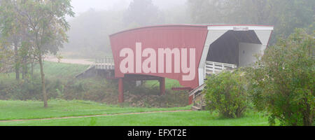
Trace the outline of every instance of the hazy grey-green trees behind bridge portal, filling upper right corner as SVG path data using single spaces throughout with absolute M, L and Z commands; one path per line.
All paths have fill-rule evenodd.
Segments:
M 188 0 L 194 23 L 274 25 L 275 36 L 314 24 L 314 0 Z

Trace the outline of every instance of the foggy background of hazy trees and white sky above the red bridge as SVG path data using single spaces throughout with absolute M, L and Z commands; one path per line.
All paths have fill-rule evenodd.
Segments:
M 125 29 L 171 24 L 274 25 L 276 36 L 314 29 L 314 0 L 72 0 L 64 57 L 111 55 L 109 35 Z

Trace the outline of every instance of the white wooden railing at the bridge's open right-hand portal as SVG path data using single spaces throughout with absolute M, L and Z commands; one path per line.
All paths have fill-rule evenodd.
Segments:
M 220 73 L 221 71 L 224 71 L 224 70 L 232 70 L 236 68 L 237 68 L 237 65 L 235 64 L 226 64 L 226 63 L 220 63 L 220 62 L 206 61 L 205 72 L 207 74 L 215 74 L 215 73 Z

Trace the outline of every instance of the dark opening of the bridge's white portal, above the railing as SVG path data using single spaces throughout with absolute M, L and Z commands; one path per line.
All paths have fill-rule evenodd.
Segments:
M 255 31 L 227 31 L 211 43 L 207 61 L 237 66 L 255 62 L 255 54 L 265 50 Z

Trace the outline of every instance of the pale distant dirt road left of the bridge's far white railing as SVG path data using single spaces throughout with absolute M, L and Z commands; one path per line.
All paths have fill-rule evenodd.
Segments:
M 58 62 L 57 57 L 52 56 L 46 56 L 45 61 L 48 62 Z M 61 59 L 60 63 L 66 63 L 66 64 L 85 64 L 85 65 L 91 65 L 94 64 L 94 62 L 88 61 L 88 59 Z

